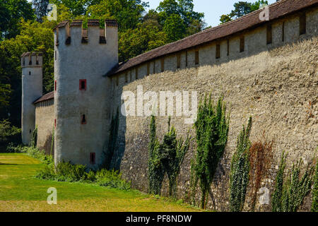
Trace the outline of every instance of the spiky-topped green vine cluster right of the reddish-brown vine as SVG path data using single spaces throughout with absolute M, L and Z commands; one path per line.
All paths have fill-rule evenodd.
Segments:
M 273 212 L 296 212 L 305 196 L 310 193 L 314 168 L 307 166 L 300 178 L 302 160 L 293 165 L 288 172 L 288 178 L 283 179 L 286 155 L 283 153 L 276 176 L 276 188 L 272 196 Z

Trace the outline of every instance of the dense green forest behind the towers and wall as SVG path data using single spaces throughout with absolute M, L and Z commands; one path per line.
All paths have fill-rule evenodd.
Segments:
M 47 20 L 47 5 L 57 5 L 57 21 Z M 267 1 L 239 1 L 225 23 L 257 10 Z M 163 0 L 148 9 L 141 0 L 1 0 L 0 1 L 0 146 L 19 133 L 21 110 L 20 55 L 43 52 L 43 93 L 53 90 L 53 28 L 62 20 L 116 19 L 119 23 L 119 61 L 136 57 L 206 28 L 204 13 L 194 11 L 192 0 Z M 101 23 L 101 26 L 103 24 Z

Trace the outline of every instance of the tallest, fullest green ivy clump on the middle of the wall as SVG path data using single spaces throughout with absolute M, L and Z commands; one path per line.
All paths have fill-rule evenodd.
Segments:
M 196 154 L 192 161 L 192 189 L 199 183 L 201 208 L 206 208 L 208 191 L 228 141 L 230 113 L 226 115 L 223 96 L 216 104 L 211 94 L 200 101 L 196 128 Z M 193 193 L 194 194 L 194 193 Z M 195 204 L 195 203 L 194 203 Z

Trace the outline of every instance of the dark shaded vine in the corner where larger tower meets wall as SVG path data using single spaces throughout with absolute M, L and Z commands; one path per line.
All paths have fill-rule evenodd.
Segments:
M 110 137 L 108 139 L 107 151 L 105 154 L 105 162 L 102 168 L 107 170 L 111 169 L 112 156 L 114 155 L 114 149 L 116 147 L 117 135 L 119 126 L 119 109 L 117 108 L 116 116 L 112 116 L 112 121 L 110 123 Z

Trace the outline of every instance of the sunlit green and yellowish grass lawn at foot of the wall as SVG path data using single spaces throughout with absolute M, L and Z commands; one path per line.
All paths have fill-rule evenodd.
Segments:
M 185 204 L 139 191 L 107 189 L 94 184 L 35 179 L 44 167 L 21 153 L 0 154 L 0 211 L 199 211 Z M 57 205 L 47 203 L 47 189 L 57 189 Z

